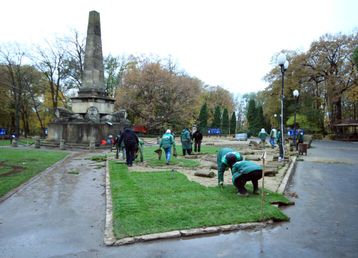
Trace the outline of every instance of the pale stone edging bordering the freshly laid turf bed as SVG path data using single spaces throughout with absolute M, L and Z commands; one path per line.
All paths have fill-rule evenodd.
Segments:
M 292 161 L 289 163 L 287 171 L 283 180 L 281 181 L 280 186 L 276 192 L 283 193 L 285 191 L 286 185 L 291 178 L 292 171 L 295 168 L 297 157 L 293 157 Z M 105 221 L 105 230 L 104 230 L 104 244 L 107 246 L 120 246 L 133 244 L 137 242 L 145 242 L 159 239 L 170 239 L 170 238 L 181 238 L 189 236 L 198 236 L 203 234 L 213 234 L 213 233 L 223 233 L 229 231 L 237 230 L 248 230 L 248 229 L 261 229 L 267 225 L 273 224 L 272 220 L 266 222 L 253 222 L 253 223 L 244 223 L 244 224 L 234 224 L 234 225 L 222 225 L 217 227 L 203 227 L 203 228 L 194 228 L 194 229 L 185 229 L 185 230 L 174 230 L 164 233 L 155 233 L 135 237 L 125 237 L 122 239 L 116 239 L 113 233 L 113 217 L 112 217 L 112 195 L 111 195 L 111 186 L 109 180 L 109 169 L 108 169 L 108 159 L 106 161 L 106 221 Z

